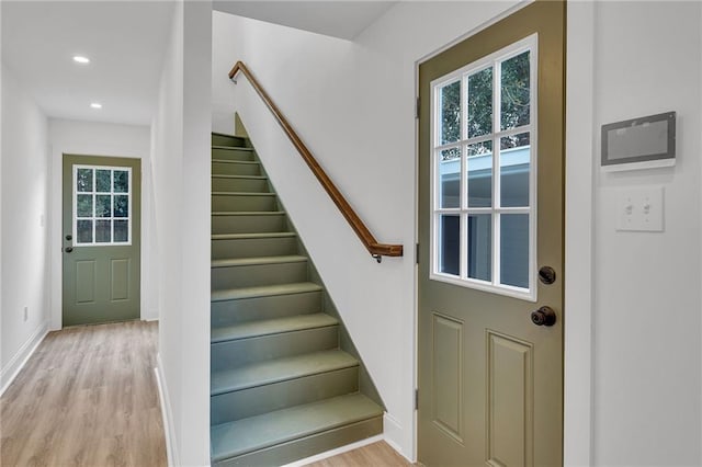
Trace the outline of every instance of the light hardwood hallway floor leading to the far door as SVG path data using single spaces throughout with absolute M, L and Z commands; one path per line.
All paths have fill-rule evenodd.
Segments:
M 0 398 L 0 465 L 166 466 L 158 324 L 49 333 Z

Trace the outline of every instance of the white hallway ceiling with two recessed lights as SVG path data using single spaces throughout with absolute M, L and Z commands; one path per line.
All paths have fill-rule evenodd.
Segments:
M 150 124 L 173 3 L 1 1 L 2 62 L 52 117 Z M 92 60 L 81 66 L 73 55 Z M 103 104 L 101 110 L 91 102 Z

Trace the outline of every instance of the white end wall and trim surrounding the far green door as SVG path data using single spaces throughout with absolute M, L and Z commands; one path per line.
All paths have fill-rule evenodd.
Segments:
M 50 118 L 50 271 L 52 271 L 52 329 L 61 329 L 61 263 L 64 246 L 61 219 L 63 159 L 65 153 L 107 156 L 141 159 L 141 319 L 158 319 L 156 298 L 150 291 L 152 278 L 149 238 L 151 204 L 150 192 L 150 132 L 144 125 L 122 125 Z

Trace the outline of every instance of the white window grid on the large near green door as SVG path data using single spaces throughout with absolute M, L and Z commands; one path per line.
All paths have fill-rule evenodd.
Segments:
M 430 278 L 468 288 L 491 292 L 529 301 L 536 301 L 535 269 L 536 269 L 536 155 L 537 155 L 537 34 L 516 42 L 494 54 L 480 58 L 467 66 L 452 71 L 431 82 L 431 264 Z M 524 52 L 530 53 L 530 118 L 529 124 L 516 128 L 501 129 L 501 76 L 500 64 Z M 467 78 L 482 70 L 492 67 L 492 128 L 491 133 L 477 137 L 468 137 L 467 126 Z M 443 144 L 441 141 L 441 98 L 442 88 L 455 82 L 461 84 L 461 136 L 457 141 Z M 500 203 L 500 139 L 528 133 L 530 135 L 530 172 L 529 172 L 529 206 L 502 207 Z M 467 196 L 467 150 L 471 145 L 491 141 L 491 205 L 490 207 L 468 207 Z M 441 152 L 446 149 L 458 148 L 461 150 L 460 169 L 460 207 L 441 207 Z M 491 216 L 491 280 L 483 281 L 468 276 L 468 216 Z M 529 216 L 529 260 L 528 260 L 528 287 L 517 287 L 501 284 L 500 274 L 500 217 L 507 214 L 526 214 Z M 453 275 L 440 271 L 440 219 L 442 215 L 460 217 L 460 273 Z

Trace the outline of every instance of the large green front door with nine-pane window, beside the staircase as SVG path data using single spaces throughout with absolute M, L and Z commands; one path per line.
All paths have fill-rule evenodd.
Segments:
M 565 3 L 419 66 L 418 457 L 563 464 Z

